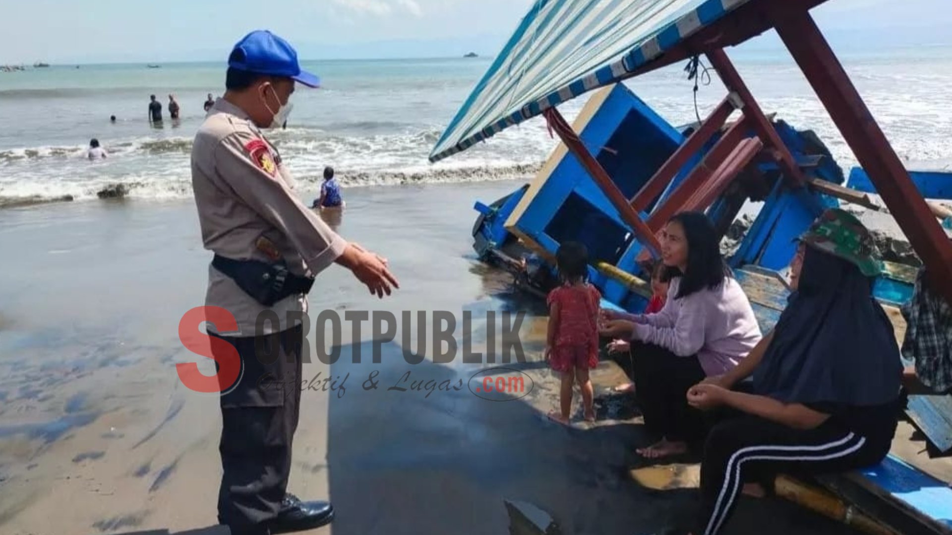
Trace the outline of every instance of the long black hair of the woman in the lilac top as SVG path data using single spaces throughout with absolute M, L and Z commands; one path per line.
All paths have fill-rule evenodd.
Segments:
M 681 277 L 675 299 L 687 297 L 704 288 L 720 287 L 724 279 L 734 276 L 721 254 L 717 230 L 703 212 L 681 212 L 669 219 L 668 223 L 681 225 L 684 239 L 687 240 L 687 272 L 682 273 L 679 268 L 667 268 L 668 279 Z

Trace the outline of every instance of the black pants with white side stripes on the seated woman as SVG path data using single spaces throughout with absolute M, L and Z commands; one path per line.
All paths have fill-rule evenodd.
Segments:
M 794 429 L 756 416 L 728 419 L 711 430 L 701 464 L 703 510 L 695 535 L 719 533 L 745 483 L 771 481 L 778 473 L 830 473 L 873 466 L 890 441 L 873 440 L 827 421 Z

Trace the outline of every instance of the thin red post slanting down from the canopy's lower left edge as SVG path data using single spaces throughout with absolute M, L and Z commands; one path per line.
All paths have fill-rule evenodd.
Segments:
M 605 168 L 598 163 L 598 160 L 592 156 L 588 149 L 585 149 L 582 140 L 579 139 L 575 130 L 568 126 L 562 113 L 555 108 L 545 109 L 543 113 L 549 125 L 559 134 L 559 138 L 562 139 L 562 142 L 565 143 L 565 147 L 575 154 L 575 157 L 579 159 L 582 167 L 588 171 L 588 174 L 595 180 L 595 183 L 602 188 L 602 191 L 608 196 L 608 200 L 611 201 L 611 204 L 618 209 L 625 223 L 635 231 L 638 240 L 645 248 L 651 251 L 652 255 L 658 256 L 661 245 L 658 243 L 658 239 L 655 238 L 654 232 L 652 232 L 642 218 L 638 216 L 638 212 L 631 208 L 631 205 L 628 204 L 628 200 L 625 198 L 625 193 L 622 193 L 622 190 L 612 182 Z

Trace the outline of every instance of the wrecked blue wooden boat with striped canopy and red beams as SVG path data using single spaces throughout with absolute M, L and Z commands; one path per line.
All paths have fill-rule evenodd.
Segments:
M 766 331 L 786 304 L 792 238 L 824 208 L 879 209 L 868 195 L 876 193 L 952 302 L 952 243 L 942 208 L 925 200 L 952 198 L 952 176 L 902 166 L 810 16 L 823 1 L 533 3 L 430 155 L 444 159 L 536 116 L 562 141 L 530 184 L 476 203 L 477 253 L 545 291 L 555 282 L 559 244 L 584 242 L 606 305 L 641 311 L 649 296 L 645 261 L 671 215 L 704 210 L 725 234 L 747 203 L 761 202 L 729 260 Z M 812 132 L 764 114 L 724 51 L 771 29 L 859 160 L 848 178 Z M 670 126 L 621 84 L 679 62 L 696 70 L 702 56 L 728 94 L 697 125 Z M 559 104 L 596 89 L 569 125 Z M 898 307 L 910 299 L 916 275 L 916 268 L 887 263 L 875 288 L 900 340 Z M 910 397 L 910 422 L 932 452 L 952 452 L 950 399 Z M 913 427 L 903 426 L 881 466 L 826 478 L 815 495 L 847 501 L 876 519 L 877 532 L 952 533 L 952 459 L 929 458 L 922 442 L 910 442 Z

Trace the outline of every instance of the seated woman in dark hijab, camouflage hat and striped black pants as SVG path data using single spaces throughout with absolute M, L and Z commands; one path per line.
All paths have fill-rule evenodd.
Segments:
M 724 527 L 745 483 L 883 461 L 896 432 L 902 364 L 873 298 L 881 265 L 859 220 L 826 210 L 800 239 L 794 291 L 774 331 L 741 366 L 688 391 L 691 406 L 741 413 L 715 426 L 704 445 L 697 535 Z M 751 374 L 753 394 L 729 389 Z

